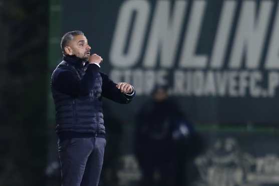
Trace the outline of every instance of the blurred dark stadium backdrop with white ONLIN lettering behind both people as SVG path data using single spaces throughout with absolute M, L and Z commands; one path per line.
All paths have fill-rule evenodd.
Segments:
M 135 116 L 157 84 L 200 136 L 187 185 L 279 185 L 278 1 L 0 0 L 0 15 L 0 185 L 59 185 L 50 75 L 72 30 L 137 91 L 104 103 L 101 185 L 139 185 Z

